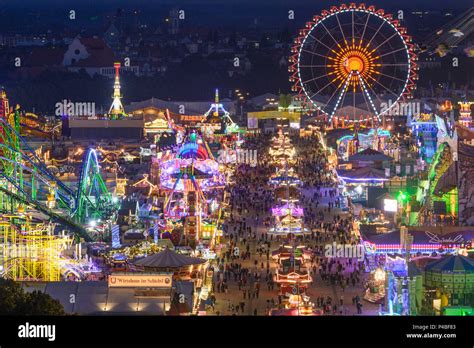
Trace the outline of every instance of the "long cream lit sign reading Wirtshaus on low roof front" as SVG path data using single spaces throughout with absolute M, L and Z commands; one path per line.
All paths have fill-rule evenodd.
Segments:
M 111 274 L 109 288 L 171 288 L 171 274 Z

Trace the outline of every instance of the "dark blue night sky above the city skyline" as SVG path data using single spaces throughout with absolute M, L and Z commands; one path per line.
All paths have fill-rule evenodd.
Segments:
M 67 10 L 78 13 L 77 24 L 94 25 L 112 16 L 117 9 L 124 12 L 138 9 L 143 22 L 153 22 L 166 16 L 172 7 L 184 9 L 187 21 L 193 25 L 247 27 L 254 23 L 275 26 L 287 19 L 287 11 L 295 11 L 297 21 L 306 21 L 324 8 L 349 1 L 329 0 L 0 0 L 0 29 L 8 30 L 24 24 L 63 23 L 67 20 Z M 459 12 L 473 5 L 472 0 L 378 0 L 367 1 L 388 11 L 403 9 L 438 10 Z M 8 14 L 8 16 L 5 16 Z M 64 14 L 64 17 L 62 16 Z M 97 17 L 97 18 L 96 18 Z M 85 22 L 84 22 L 85 21 Z

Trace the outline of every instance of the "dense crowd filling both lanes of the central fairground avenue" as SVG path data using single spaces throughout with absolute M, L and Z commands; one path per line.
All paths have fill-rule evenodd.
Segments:
M 278 293 L 273 280 L 277 264 L 271 259 L 271 251 L 278 248 L 279 241 L 267 234 L 275 201 L 269 185 L 269 178 L 275 173 L 268 155 L 270 139 L 268 135 L 246 139 L 246 148 L 257 150 L 257 164 L 239 164 L 233 183 L 226 188 L 230 196 L 223 228 L 226 245 L 216 260 L 214 290 L 218 297 L 222 294 L 227 299 L 228 315 L 266 314 L 272 308 L 282 307 L 284 294 Z M 337 287 L 342 293 L 347 288 L 358 289 L 363 283 L 364 263 L 352 258 L 336 260 L 324 254 L 328 243 L 355 245 L 358 240 L 352 233 L 350 214 L 341 212 L 341 192 L 320 139 L 293 137 L 291 142 L 296 149 L 296 175 L 302 181 L 300 204 L 305 211 L 304 223 L 310 231 L 301 238 L 313 252 L 308 261 L 313 288 L 323 283 L 325 289 Z M 240 296 L 235 296 L 234 290 L 229 296 L 229 286 Z M 257 302 L 263 289 L 267 294 L 266 313 L 258 313 Z M 347 314 L 343 295 L 338 301 L 333 296 L 319 293 L 313 302 L 326 314 Z M 358 295 L 357 300 L 353 298 L 353 305 L 357 313 L 362 313 Z

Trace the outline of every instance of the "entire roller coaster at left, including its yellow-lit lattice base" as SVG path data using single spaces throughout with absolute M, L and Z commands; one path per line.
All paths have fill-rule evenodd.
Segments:
M 21 136 L 20 107 L 12 111 L 5 91 L 1 93 L 2 273 L 14 279 L 59 280 L 61 253 L 72 237 L 85 242 L 97 238 L 87 226 L 113 219 L 117 201 L 108 192 L 92 148 L 84 154 L 75 186 L 59 180 Z

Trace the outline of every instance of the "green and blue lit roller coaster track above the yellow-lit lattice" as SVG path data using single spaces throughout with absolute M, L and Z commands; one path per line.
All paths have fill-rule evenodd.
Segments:
M 19 107 L 10 113 L 3 91 L 0 108 L 0 211 L 17 214 L 29 207 L 91 241 L 83 225 L 108 218 L 118 208 L 100 174 L 95 149 L 85 153 L 77 188 L 69 187 L 20 136 Z

